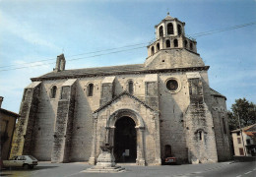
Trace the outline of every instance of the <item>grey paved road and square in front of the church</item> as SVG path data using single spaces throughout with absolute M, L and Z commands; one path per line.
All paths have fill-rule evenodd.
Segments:
M 122 164 L 121 164 L 122 165 Z M 84 173 L 87 163 L 40 162 L 32 170 L 6 169 L 0 176 L 11 177 L 255 177 L 255 162 L 222 162 L 165 166 L 129 166 L 123 173 Z

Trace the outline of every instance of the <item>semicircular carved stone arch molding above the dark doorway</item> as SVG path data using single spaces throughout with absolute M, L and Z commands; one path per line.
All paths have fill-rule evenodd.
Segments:
M 135 128 L 145 129 L 145 124 L 140 114 L 132 109 L 118 109 L 113 112 L 107 122 L 105 128 L 115 128 L 115 123 L 122 117 L 130 117 L 135 122 Z

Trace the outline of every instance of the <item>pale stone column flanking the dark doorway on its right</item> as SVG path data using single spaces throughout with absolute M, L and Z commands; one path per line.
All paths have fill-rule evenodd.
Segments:
M 144 127 L 135 127 L 137 129 L 137 165 L 145 166 L 145 148 L 144 148 Z

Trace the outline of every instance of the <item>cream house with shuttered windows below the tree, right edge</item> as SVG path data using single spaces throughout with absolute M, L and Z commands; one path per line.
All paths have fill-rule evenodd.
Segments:
M 234 155 L 256 156 L 256 124 L 231 131 Z

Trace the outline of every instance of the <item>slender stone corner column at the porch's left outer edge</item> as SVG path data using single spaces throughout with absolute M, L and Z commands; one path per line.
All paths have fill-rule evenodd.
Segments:
M 92 136 L 92 152 L 91 157 L 89 158 L 89 164 L 96 164 L 96 123 L 97 123 L 97 115 L 93 114 L 94 119 L 94 127 L 93 127 L 93 136 Z

